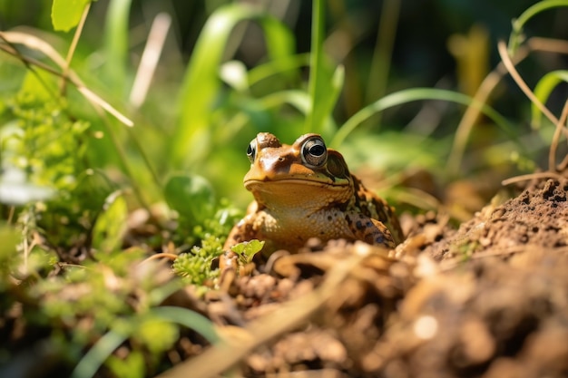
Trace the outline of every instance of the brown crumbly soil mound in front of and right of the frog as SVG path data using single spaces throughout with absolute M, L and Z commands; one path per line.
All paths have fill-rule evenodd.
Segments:
M 566 179 L 531 182 L 457 229 L 403 217 L 396 251 L 313 240 L 277 254 L 207 297 L 239 346 L 166 376 L 568 376 L 567 190 Z

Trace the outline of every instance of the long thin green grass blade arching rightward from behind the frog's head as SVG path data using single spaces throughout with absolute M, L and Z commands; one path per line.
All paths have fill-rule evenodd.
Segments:
M 341 143 L 343 143 L 343 141 L 345 141 L 345 139 L 348 137 L 349 133 L 357 129 L 357 127 L 363 121 L 366 121 L 371 116 L 377 114 L 380 111 L 384 111 L 388 108 L 401 105 L 406 102 L 415 102 L 420 100 L 439 100 L 473 106 L 476 109 L 482 111 L 490 119 L 495 121 L 495 123 L 499 127 L 501 127 L 509 135 L 511 135 L 511 138 L 516 138 L 514 136 L 514 127 L 509 123 L 509 121 L 507 121 L 492 107 L 481 102 L 476 102 L 475 99 L 470 96 L 459 92 L 446 91 L 436 88 L 411 88 L 388 94 L 382 99 L 379 99 L 376 102 L 367 105 L 360 111 L 357 111 L 357 113 L 355 113 L 340 127 L 329 145 L 331 147 L 338 148 L 338 146 L 341 145 Z

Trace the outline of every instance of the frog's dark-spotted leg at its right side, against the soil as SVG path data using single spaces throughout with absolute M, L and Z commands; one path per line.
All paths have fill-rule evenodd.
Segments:
M 349 213 L 346 220 L 355 239 L 387 248 L 397 247 L 392 233 L 381 221 L 359 213 Z

